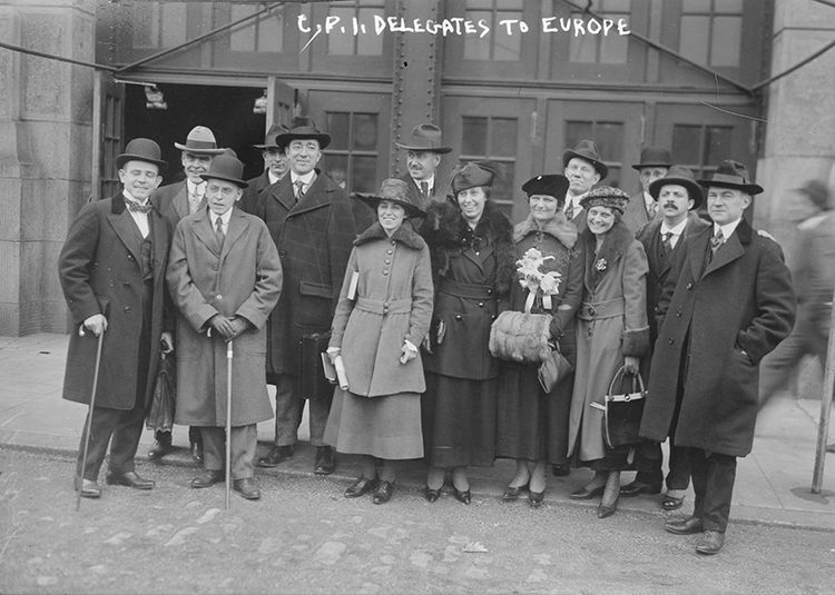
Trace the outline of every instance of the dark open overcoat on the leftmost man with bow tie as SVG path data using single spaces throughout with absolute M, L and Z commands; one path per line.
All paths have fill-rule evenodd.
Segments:
M 140 266 L 143 237 L 125 207 L 120 192 L 86 205 L 70 226 L 58 258 L 58 274 L 72 317 L 63 378 L 63 398 L 89 404 L 98 339 L 84 337 L 78 328 L 95 314 L 107 318 L 96 390 L 96 406 L 131 409 L 140 374 L 146 375 L 144 398 L 149 401 L 159 363 L 163 331 L 170 330 L 165 292 L 169 230 L 156 208 L 148 212 L 153 242 L 154 297 L 150 320 L 150 357 L 139 369 L 139 336 L 143 329 L 144 281 Z

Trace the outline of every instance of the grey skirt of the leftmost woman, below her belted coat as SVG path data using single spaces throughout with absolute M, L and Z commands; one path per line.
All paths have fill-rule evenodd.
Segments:
M 324 442 L 340 453 L 389 460 L 421 458 L 421 396 L 360 397 L 336 387 Z

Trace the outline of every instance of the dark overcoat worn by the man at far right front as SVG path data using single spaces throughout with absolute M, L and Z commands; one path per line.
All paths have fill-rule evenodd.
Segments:
M 676 446 L 745 456 L 754 440 L 759 361 L 790 333 L 795 295 L 773 239 L 743 219 L 709 258 L 711 235 L 708 227 L 686 244 L 661 297 L 640 434 L 662 442 L 675 425 Z

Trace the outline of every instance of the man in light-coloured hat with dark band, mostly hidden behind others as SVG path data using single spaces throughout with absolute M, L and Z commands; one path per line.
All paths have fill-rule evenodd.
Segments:
M 206 182 L 200 177 L 208 171 L 212 160 L 227 149 L 218 148 L 215 135 L 205 126 L 195 126 L 186 137 L 186 142 L 175 142 L 179 149 L 180 162 L 186 179 L 163 186 L 153 195 L 159 212 L 168 220 L 170 232 L 177 222 L 186 215 L 205 208 Z M 203 460 L 203 444 L 197 428 L 189 428 L 188 442 L 191 457 L 198 463 Z M 157 432 L 154 444 L 148 450 L 148 458 L 158 460 L 174 450 L 170 432 Z

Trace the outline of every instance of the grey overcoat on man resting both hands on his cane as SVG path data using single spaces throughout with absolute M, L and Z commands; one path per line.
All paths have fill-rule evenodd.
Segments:
M 282 266 L 264 222 L 235 208 L 220 248 L 208 209 L 188 215 L 174 234 L 167 280 L 179 313 L 175 422 L 226 425 L 226 343 L 207 336 L 217 314 L 249 321 L 233 341 L 232 425 L 272 418 L 265 326 L 282 290 Z

